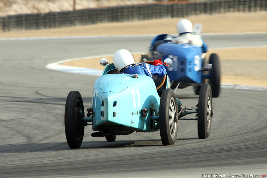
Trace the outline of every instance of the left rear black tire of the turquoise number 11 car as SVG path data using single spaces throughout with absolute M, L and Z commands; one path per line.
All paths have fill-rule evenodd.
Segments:
M 84 105 L 81 94 L 69 92 L 65 105 L 65 134 L 70 148 L 80 148 L 84 136 Z

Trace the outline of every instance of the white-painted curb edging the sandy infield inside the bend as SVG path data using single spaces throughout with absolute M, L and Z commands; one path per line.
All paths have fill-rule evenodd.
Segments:
M 138 53 L 133 53 L 133 54 L 141 54 L 141 53 L 144 53 L 144 52 L 138 52 Z M 107 56 L 112 56 L 112 55 L 113 54 L 107 54 L 107 55 L 104 55 L 104 56 L 91 56 L 91 57 L 67 59 L 67 60 L 62 60 L 62 61 L 58 61 L 58 62 L 54 62 L 54 63 L 48 64 L 45 67 L 47 69 L 56 70 L 56 71 L 60 71 L 60 72 L 101 76 L 103 70 L 90 69 L 90 68 L 84 68 L 84 67 L 67 66 L 67 65 L 62 65 L 62 63 L 69 62 L 69 61 L 76 61 L 76 60 L 107 57 Z M 223 89 L 263 90 L 263 91 L 267 91 L 267 87 L 249 86 L 249 85 L 236 85 L 236 84 L 226 84 L 226 83 L 221 83 L 221 88 L 223 88 Z

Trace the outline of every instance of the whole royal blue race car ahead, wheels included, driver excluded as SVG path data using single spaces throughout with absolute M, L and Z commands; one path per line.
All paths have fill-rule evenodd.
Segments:
M 220 63 L 216 53 L 212 53 L 209 63 L 206 64 L 206 53 L 201 47 L 187 43 L 172 43 L 172 35 L 161 34 L 152 39 L 150 50 L 171 58 L 172 66 L 166 67 L 173 88 L 181 82 L 179 88 L 194 85 L 194 91 L 199 94 L 201 85 L 210 84 L 213 97 L 220 94 Z

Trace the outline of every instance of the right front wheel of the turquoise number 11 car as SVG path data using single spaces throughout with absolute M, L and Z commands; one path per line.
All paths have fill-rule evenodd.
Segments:
M 212 90 L 209 84 L 201 86 L 198 98 L 198 138 L 210 135 L 212 111 Z

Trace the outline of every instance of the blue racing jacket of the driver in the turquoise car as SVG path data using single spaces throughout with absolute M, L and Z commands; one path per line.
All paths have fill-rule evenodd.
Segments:
M 164 77 L 166 69 L 163 65 L 154 66 L 146 63 L 137 63 L 134 66 L 129 66 L 124 69 L 121 74 L 140 74 L 150 78 L 152 78 L 152 76 Z

